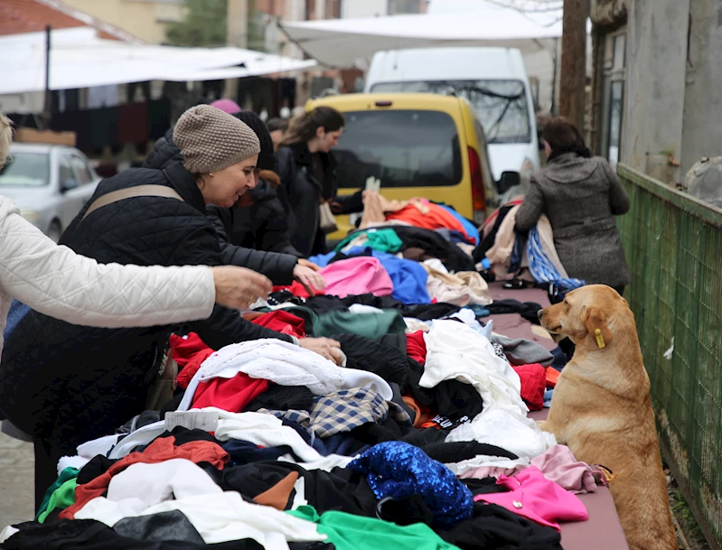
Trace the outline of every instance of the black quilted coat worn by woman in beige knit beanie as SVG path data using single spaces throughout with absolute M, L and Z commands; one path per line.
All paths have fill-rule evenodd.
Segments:
M 173 187 L 164 197 L 120 200 L 80 223 L 89 204 L 137 185 Z M 138 266 L 222 264 L 218 236 L 201 191 L 180 163 L 164 171 L 137 168 L 100 182 L 63 234 L 64 244 L 100 263 Z M 119 297 L 120 298 L 120 297 Z M 73 454 L 77 444 L 113 433 L 145 408 L 146 390 L 171 331 L 178 327 L 96 329 L 28 313 L 6 342 L 0 363 L 0 409 L 26 433 Z M 285 335 L 216 306 L 211 318 L 188 323 L 211 348 Z

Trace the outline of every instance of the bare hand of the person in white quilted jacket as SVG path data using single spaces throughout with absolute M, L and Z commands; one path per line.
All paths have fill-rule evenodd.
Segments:
M 216 303 L 235 310 L 247 310 L 258 298 L 267 299 L 273 285 L 264 275 L 239 266 L 211 267 L 216 286 Z

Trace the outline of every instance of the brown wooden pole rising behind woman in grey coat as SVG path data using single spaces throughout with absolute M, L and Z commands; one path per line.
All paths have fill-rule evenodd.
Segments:
M 559 114 L 584 133 L 588 0 L 564 0 Z

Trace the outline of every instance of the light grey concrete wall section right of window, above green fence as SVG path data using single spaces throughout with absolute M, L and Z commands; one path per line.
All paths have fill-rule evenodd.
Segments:
M 680 181 L 689 1 L 629 0 L 621 160 L 663 182 Z

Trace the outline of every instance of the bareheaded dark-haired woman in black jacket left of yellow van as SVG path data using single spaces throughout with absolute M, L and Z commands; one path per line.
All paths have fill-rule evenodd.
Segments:
M 325 252 L 321 209 L 348 214 L 363 209 L 361 192 L 336 197 L 336 161 L 331 149 L 343 133 L 343 115 L 333 107 L 316 107 L 293 120 L 277 151 L 279 190 L 286 195 L 295 235 L 304 256 Z

